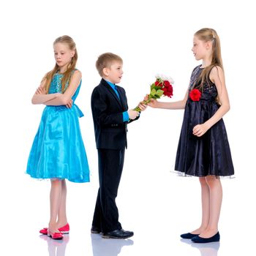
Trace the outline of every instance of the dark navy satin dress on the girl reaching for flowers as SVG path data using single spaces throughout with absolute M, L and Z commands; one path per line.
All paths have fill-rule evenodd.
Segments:
M 189 92 L 198 86 L 197 80 L 203 70 L 200 66 L 195 67 L 192 72 Z M 217 87 L 208 78 L 203 84 L 200 100 L 193 101 L 189 97 L 187 99 L 175 165 L 175 170 L 182 176 L 231 177 L 234 174 L 230 146 L 222 118 L 203 136 L 197 137 L 192 133 L 195 125 L 203 124 L 219 109 L 217 95 Z

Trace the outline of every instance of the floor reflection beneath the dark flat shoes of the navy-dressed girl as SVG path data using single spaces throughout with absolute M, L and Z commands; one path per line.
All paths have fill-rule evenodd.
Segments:
M 197 244 L 190 239 L 181 239 L 182 243 L 190 244 L 192 247 L 199 249 L 201 256 L 217 256 L 219 251 L 219 242 Z

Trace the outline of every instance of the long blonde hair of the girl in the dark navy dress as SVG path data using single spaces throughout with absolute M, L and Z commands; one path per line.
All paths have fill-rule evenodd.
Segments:
M 200 81 L 200 89 L 203 89 L 203 83 L 206 81 L 208 82 L 208 78 L 213 67 L 219 66 L 223 69 L 222 65 L 222 54 L 220 49 L 220 41 L 217 32 L 214 29 L 200 29 L 195 32 L 195 37 L 204 41 L 204 42 L 211 42 L 212 50 L 211 50 L 211 64 L 204 68 L 203 71 L 200 73 L 200 76 L 197 80 Z

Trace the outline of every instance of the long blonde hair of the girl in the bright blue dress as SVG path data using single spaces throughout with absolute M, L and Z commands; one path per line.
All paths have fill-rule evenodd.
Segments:
M 69 36 L 62 36 L 62 37 L 58 37 L 54 42 L 53 45 L 55 45 L 56 43 L 61 42 L 64 44 L 67 44 L 69 46 L 69 50 L 75 50 L 75 55 L 72 57 L 70 63 L 67 66 L 67 70 L 64 72 L 64 76 L 61 80 L 61 92 L 64 93 L 65 91 L 65 86 L 66 84 L 69 82 L 71 75 L 72 75 L 72 71 L 75 69 L 75 65 L 78 61 L 78 51 L 75 47 L 75 42 L 74 40 L 69 37 Z M 46 79 L 46 84 L 45 84 L 45 89 L 47 91 L 47 93 L 49 92 L 50 89 L 50 82 L 53 79 L 53 75 L 56 74 L 56 72 L 59 71 L 59 66 L 57 64 L 55 64 L 55 67 L 53 67 L 52 70 L 50 70 L 46 75 L 45 78 Z M 67 89 L 67 88 L 66 88 Z

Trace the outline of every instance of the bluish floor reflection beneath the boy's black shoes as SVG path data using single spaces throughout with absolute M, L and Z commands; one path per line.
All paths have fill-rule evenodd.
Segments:
M 123 246 L 132 245 L 131 239 L 106 239 L 99 234 L 91 234 L 91 246 L 94 256 L 117 256 Z

